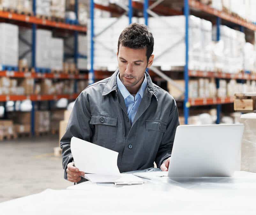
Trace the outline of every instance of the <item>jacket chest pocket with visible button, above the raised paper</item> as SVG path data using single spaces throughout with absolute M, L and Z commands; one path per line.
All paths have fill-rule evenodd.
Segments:
M 108 149 L 112 149 L 116 144 L 117 136 L 117 117 L 92 114 L 90 124 L 95 126 L 95 136 L 97 144 Z

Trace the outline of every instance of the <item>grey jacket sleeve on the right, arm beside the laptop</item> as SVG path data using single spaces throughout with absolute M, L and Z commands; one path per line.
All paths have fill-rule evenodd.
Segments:
M 155 163 L 158 168 L 160 168 L 165 159 L 171 156 L 176 128 L 179 125 L 179 114 L 175 101 L 174 104 L 174 108 L 172 108 L 169 115 L 166 132 L 163 134 L 162 141 L 156 155 Z

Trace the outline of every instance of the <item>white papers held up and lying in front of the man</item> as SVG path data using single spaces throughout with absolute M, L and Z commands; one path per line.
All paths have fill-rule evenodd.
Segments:
M 132 174 L 121 174 L 117 167 L 118 152 L 96 144 L 71 138 L 71 152 L 75 166 L 85 172 L 85 178 L 95 183 L 142 184 Z

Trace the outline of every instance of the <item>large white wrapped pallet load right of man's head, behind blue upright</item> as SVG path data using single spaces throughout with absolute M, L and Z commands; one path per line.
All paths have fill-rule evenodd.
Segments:
M 144 18 L 139 18 L 139 23 L 145 23 Z M 172 66 L 184 66 L 185 16 L 149 17 L 148 26 L 154 35 L 154 66 L 161 66 L 162 70 L 170 70 Z M 199 17 L 189 16 L 189 32 L 189 68 L 199 70 L 202 56 Z

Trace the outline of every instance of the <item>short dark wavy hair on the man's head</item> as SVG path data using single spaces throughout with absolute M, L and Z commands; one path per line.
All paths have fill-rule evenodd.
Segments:
M 147 25 L 132 23 L 120 34 L 117 52 L 119 52 L 120 44 L 132 49 L 147 48 L 146 56 L 148 61 L 154 49 L 154 38 Z

